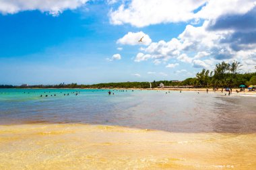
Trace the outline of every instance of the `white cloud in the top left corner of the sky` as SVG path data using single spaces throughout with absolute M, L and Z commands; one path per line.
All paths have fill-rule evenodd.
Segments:
M 39 10 L 51 15 L 59 15 L 67 9 L 77 9 L 88 0 L 1 0 L 0 13 Z

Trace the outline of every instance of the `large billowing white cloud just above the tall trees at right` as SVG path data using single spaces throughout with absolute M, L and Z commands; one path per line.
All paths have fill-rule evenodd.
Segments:
M 148 47 L 140 49 L 143 53 L 137 54 L 137 61 L 153 60 L 154 64 L 159 65 L 172 58 L 190 63 L 192 67 L 213 69 L 214 65 L 222 60 L 238 60 L 245 66 L 243 71 L 255 71 L 250 63 L 254 63 L 253 58 L 256 58 L 256 45 L 249 44 L 249 49 L 236 52 L 232 49 L 232 44 L 222 42 L 230 37 L 233 31 L 209 31 L 208 24 L 209 22 L 205 21 L 203 26 L 199 27 L 188 25 L 178 38 L 167 42 L 152 42 Z

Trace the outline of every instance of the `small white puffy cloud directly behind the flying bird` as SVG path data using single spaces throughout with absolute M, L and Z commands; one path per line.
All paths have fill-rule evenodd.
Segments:
M 142 38 L 143 37 L 143 38 Z M 142 42 L 139 42 L 139 40 L 142 38 Z M 117 40 L 117 44 L 124 44 L 124 45 L 149 45 L 152 42 L 150 39 L 150 36 L 143 32 L 128 32 L 123 38 L 120 38 Z

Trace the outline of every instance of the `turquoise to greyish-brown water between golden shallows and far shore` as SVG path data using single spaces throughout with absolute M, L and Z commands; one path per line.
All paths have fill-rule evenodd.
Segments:
M 169 132 L 256 132 L 256 97 L 111 91 L 115 95 L 108 95 L 106 89 L 0 89 L 0 124 L 81 123 Z

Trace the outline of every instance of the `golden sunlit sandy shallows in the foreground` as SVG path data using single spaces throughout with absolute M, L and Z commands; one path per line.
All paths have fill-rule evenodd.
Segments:
M 0 126 L 0 169 L 256 169 L 256 134 Z

